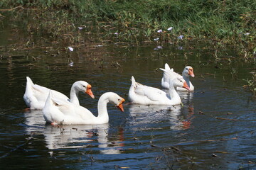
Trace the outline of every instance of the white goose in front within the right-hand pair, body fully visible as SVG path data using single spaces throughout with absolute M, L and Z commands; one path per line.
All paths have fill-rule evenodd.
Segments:
M 174 86 L 184 87 L 189 90 L 188 84 L 182 77 L 176 77 L 176 79 L 169 80 L 169 92 L 156 89 L 151 86 L 144 86 L 135 81 L 132 77 L 132 85 L 129 89 L 129 101 L 138 104 L 156 104 L 156 105 L 177 105 L 181 103 L 181 98 L 178 96 Z

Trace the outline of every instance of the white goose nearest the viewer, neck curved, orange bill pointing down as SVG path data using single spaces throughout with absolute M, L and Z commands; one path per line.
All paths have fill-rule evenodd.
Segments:
M 98 115 L 95 117 L 87 108 L 75 106 L 73 103 L 58 101 L 52 91 L 49 92 L 46 105 L 43 107 L 43 117 L 46 122 L 65 125 L 79 124 L 103 124 L 108 123 L 109 115 L 107 113 L 107 103 L 112 103 L 122 112 L 124 108 L 124 98 L 113 92 L 107 92 L 100 96 L 97 104 Z

